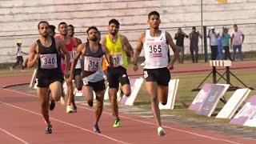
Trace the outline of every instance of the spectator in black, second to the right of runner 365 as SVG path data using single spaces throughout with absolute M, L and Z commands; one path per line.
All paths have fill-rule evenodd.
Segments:
M 196 31 L 196 28 L 192 27 L 192 32 L 190 33 L 190 54 L 192 62 L 198 62 L 198 37 L 202 39 L 202 34 L 199 31 Z M 194 61 L 194 52 L 195 52 L 195 61 Z

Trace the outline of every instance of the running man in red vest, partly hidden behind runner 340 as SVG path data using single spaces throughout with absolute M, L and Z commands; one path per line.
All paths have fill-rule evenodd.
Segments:
M 71 38 L 68 36 L 68 29 L 67 29 L 66 22 L 60 22 L 58 24 L 58 31 L 60 34 L 56 38 L 59 40 L 62 40 L 65 43 L 66 50 L 68 50 L 70 53 L 70 63 L 71 63 L 73 61 L 73 50 L 75 47 L 78 46 L 77 42 L 74 38 Z M 62 70 L 65 70 L 65 69 L 66 69 L 66 64 L 62 63 Z M 66 113 L 74 113 L 77 111 L 77 106 L 75 105 L 75 102 L 74 102 L 73 84 L 69 83 L 66 86 L 67 86 Z M 63 103 L 63 100 L 64 98 L 62 98 L 62 103 Z

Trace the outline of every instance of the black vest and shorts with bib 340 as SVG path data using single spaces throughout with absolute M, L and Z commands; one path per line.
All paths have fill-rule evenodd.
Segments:
M 50 47 L 42 46 L 40 40 L 38 43 L 38 87 L 48 87 L 50 83 L 59 81 L 63 82 L 63 74 L 61 68 L 61 57 L 56 48 L 55 39 L 52 38 Z

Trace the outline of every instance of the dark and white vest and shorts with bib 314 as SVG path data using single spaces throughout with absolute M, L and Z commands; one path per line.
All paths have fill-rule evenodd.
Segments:
M 86 52 L 82 54 L 82 81 L 85 86 L 91 86 L 94 91 L 105 90 L 104 72 L 102 70 L 102 46 L 98 45 L 98 51 L 93 53 L 90 51 L 89 43 L 86 42 Z

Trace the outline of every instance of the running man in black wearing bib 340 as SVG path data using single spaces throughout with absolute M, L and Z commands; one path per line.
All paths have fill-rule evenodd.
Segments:
M 42 116 L 46 122 L 46 134 L 52 133 L 52 125 L 49 119 L 49 90 L 54 101 L 58 101 L 62 94 L 63 74 L 61 70 L 61 58 L 58 51 L 64 54 L 65 62 L 68 63 L 70 56 L 62 42 L 50 38 L 48 34 L 49 23 L 42 21 L 38 23 L 40 38 L 30 46 L 30 56 L 27 67 L 32 67 L 38 61 L 37 73 L 37 95 L 41 102 Z M 65 75 L 68 75 L 68 68 Z

